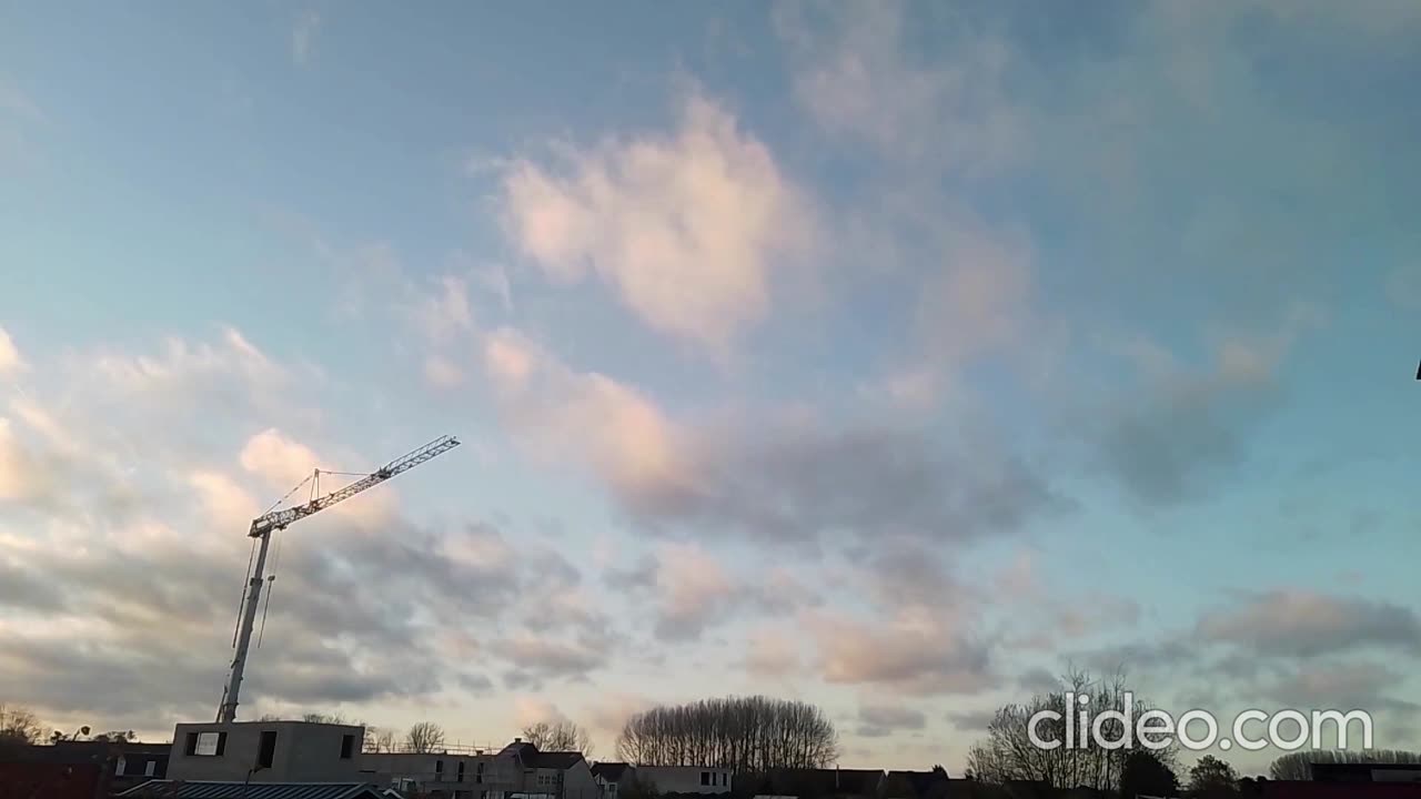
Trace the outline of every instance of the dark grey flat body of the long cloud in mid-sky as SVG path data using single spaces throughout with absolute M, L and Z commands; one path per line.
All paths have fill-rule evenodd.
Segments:
M 1025 459 L 985 439 L 756 422 L 705 431 L 699 441 L 689 479 L 621 490 L 637 520 L 789 543 L 826 535 L 949 542 L 1015 532 L 1064 506 Z

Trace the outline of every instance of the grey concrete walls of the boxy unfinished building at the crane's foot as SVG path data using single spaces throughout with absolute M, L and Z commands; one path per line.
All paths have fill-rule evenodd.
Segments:
M 189 735 L 205 732 L 226 734 L 222 755 L 188 754 Z M 252 782 L 364 781 L 360 752 L 364 726 L 301 721 L 179 724 L 173 729 L 168 776 L 242 782 L 257 762 L 263 732 L 276 732 L 276 752 L 271 768 L 252 772 Z M 352 749 L 351 756 L 342 759 L 341 745 L 347 735 L 354 736 Z

